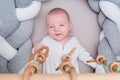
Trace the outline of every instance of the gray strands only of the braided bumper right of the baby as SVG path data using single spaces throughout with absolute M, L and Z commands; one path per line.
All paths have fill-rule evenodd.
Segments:
M 102 54 L 110 62 L 120 61 L 120 31 L 118 30 L 118 27 L 120 26 L 116 25 L 116 22 L 112 18 L 109 18 L 107 14 L 104 14 L 103 9 L 101 9 L 100 6 L 98 5 L 100 1 L 110 2 L 111 4 L 116 5 L 119 9 L 120 0 L 88 0 L 90 8 L 98 14 L 98 23 L 102 28 L 105 36 L 100 41 L 98 54 Z M 110 9 L 107 10 L 109 11 Z M 114 9 L 112 10 L 114 11 Z M 113 14 L 112 16 L 117 16 L 117 15 Z M 109 72 L 108 67 L 104 66 L 104 69 L 107 73 Z

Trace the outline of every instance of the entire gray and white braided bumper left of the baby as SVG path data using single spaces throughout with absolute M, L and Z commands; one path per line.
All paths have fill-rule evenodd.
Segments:
M 33 46 L 33 18 L 40 8 L 40 0 L 1 0 L 0 73 L 17 73 L 27 64 Z

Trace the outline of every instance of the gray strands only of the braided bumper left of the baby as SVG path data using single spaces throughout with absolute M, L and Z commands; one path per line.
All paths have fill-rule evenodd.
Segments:
M 33 19 L 20 22 L 16 17 L 16 8 L 25 8 L 31 3 L 32 0 L 0 0 L 0 36 L 17 50 L 9 61 L 0 55 L 0 73 L 19 72 L 32 53 Z

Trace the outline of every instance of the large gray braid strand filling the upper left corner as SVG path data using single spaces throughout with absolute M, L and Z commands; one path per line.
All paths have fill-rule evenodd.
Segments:
M 7 38 L 18 27 L 14 0 L 0 0 L 0 35 Z

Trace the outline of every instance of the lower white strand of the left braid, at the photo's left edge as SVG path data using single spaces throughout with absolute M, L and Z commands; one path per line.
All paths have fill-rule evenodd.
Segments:
M 0 55 L 7 60 L 12 59 L 17 54 L 17 50 L 14 49 L 7 41 L 0 36 Z

